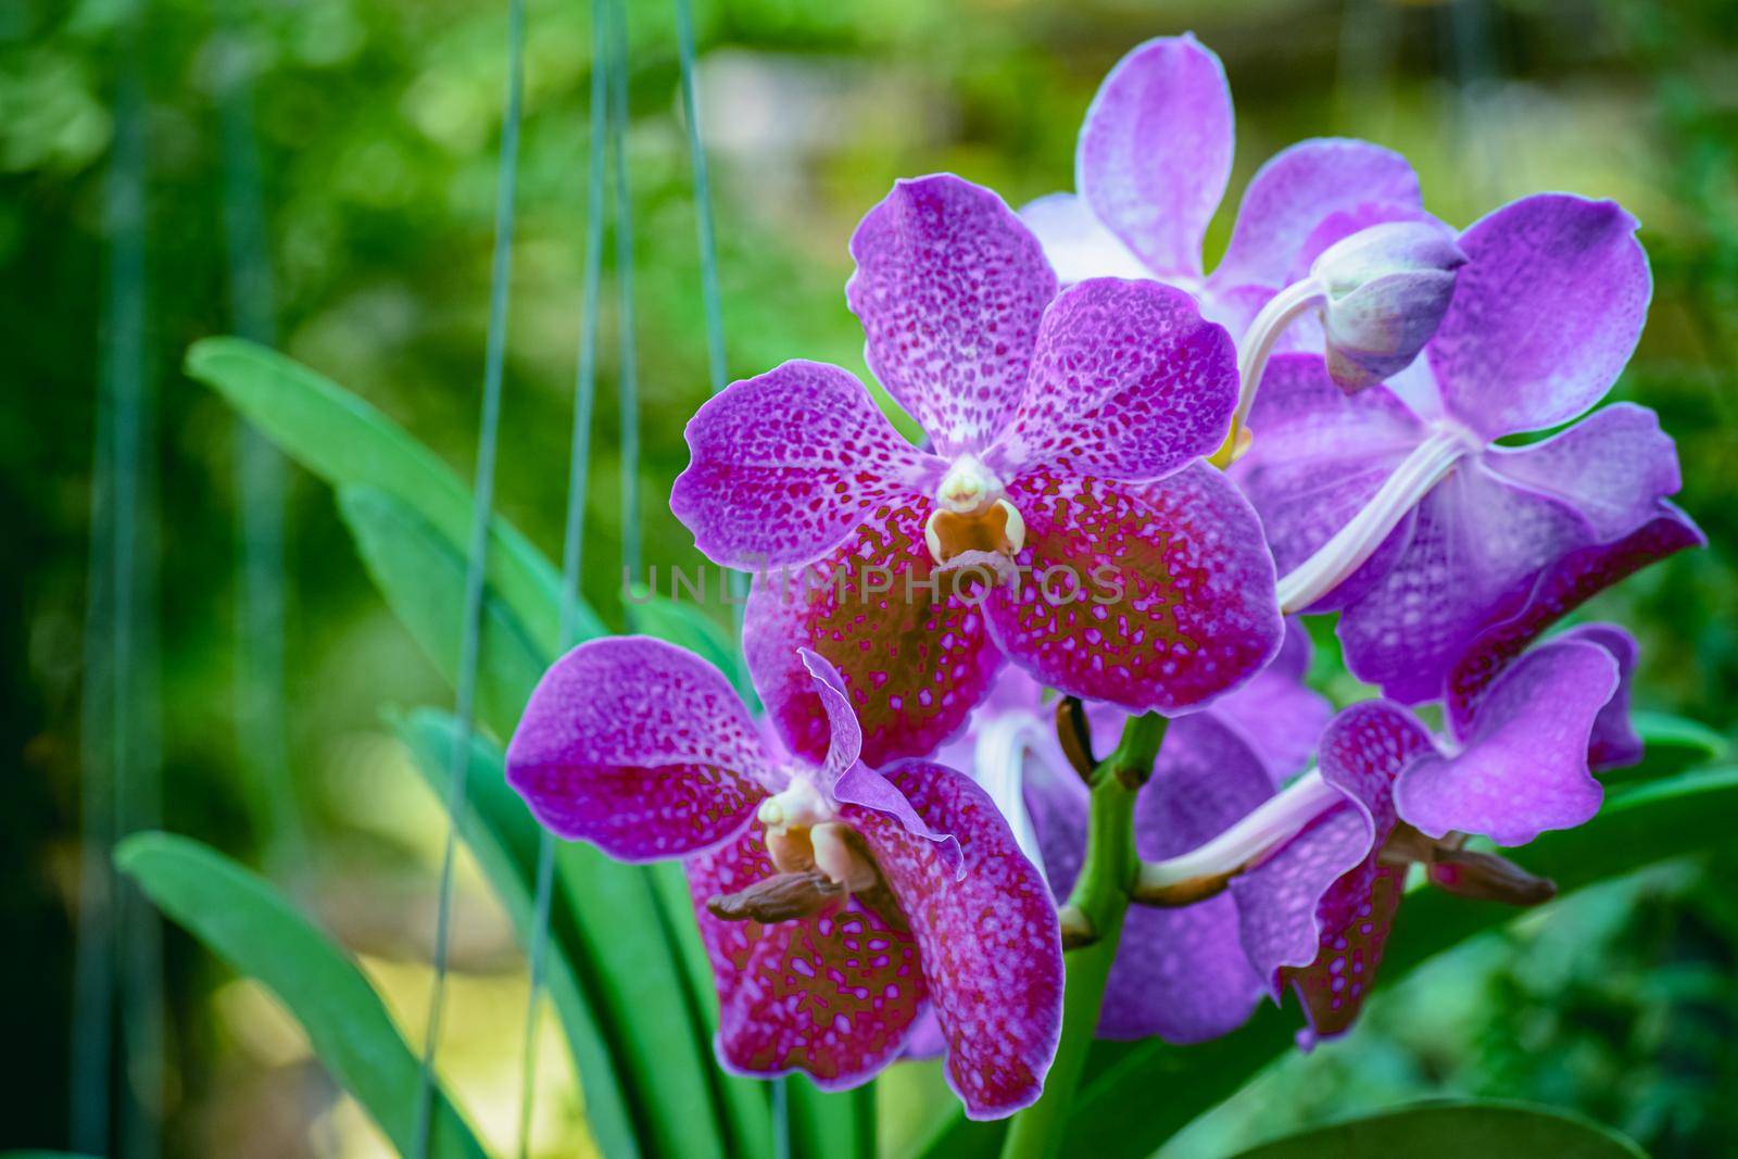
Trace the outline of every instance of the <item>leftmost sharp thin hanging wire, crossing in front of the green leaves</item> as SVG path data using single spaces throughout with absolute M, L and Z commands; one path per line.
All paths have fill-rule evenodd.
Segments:
M 518 186 L 520 111 L 525 99 L 525 0 L 507 0 L 507 108 L 501 127 L 501 176 L 495 202 L 495 250 L 488 283 L 488 341 L 483 358 L 483 414 L 476 433 L 476 481 L 471 500 L 471 540 L 464 573 L 464 626 L 454 716 L 452 768 L 447 785 L 447 844 L 441 853 L 440 895 L 434 917 L 434 983 L 429 994 L 422 1067 L 417 1076 L 417 1117 L 412 1156 L 426 1159 L 434 1112 L 434 1055 L 440 1050 L 447 999 L 447 957 L 452 924 L 454 862 L 459 853 L 459 818 L 464 813 L 464 775 L 471 754 L 476 712 L 476 671 L 483 632 L 483 579 L 488 563 L 488 527 L 495 500 L 495 450 L 501 431 L 501 379 L 507 346 L 507 285 L 513 275 L 513 200 Z

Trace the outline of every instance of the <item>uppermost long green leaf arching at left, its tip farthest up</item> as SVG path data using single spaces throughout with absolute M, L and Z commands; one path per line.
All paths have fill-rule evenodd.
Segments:
M 236 337 L 195 342 L 186 372 L 222 394 L 276 447 L 334 487 L 358 483 L 393 495 L 450 544 L 469 542 L 471 492 L 434 452 L 325 375 Z M 488 582 L 553 655 L 560 577 L 511 523 L 490 527 Z M 601 634 L 580 605 L 580 636 Z

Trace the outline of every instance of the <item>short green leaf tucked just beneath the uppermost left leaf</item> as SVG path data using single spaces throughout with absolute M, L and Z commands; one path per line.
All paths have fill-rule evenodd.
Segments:
M 459 666 L 466 561 L 433 527 L 374 487 L 341 487 L 339 513 L 388 606 L 448 681 Z M 483 594 L 476 712 L 511 735 L 542 678 L 542 653 L 494 587 Z

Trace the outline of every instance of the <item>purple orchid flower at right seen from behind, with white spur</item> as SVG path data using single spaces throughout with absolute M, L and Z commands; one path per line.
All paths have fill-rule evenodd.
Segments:
M 1340 608 L 1347 667 L 1403 702 L 1443 695 L 1467 641 L 1514 615 L 1566 554 L 1622 540 L 1679 487 L 1651 410 L 1611 387 L 1649 295 L 1635 219 L 1529 196 L 1460 236 L 1469 255 L 1425 358 L 1347 398 L 1319 358 L 1281 356 L 1237 480 L 1262 513 L 1286 610 Z

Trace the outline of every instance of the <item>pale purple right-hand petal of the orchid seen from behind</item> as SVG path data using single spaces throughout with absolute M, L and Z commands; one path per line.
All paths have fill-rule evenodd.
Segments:
M 1646 407 L 1613 403 L 1531 447 L 1495 447 L 1484 462 L 1505 480 L 1575 506 L 1601 540 L 1629 535 L 1655 502 L 1677 493 L 1677 447 Z

